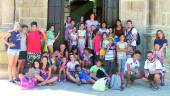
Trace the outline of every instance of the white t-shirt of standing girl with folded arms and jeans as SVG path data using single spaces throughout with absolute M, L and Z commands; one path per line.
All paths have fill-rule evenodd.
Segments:
M 126 42 L 118 42 L 118 43 L 117 43 L 117 46 L 118 46 L 120 49 L 125 49 L 125 48 L 127 48 L 127 43 L 126 43 Z M 117 56 L 118 56 L 118 59 L 121 59 L 121 58 L 123 58 L 123 57 L 126 58 L 126 52 L 123 52 L 123 51 L 117 52 Z

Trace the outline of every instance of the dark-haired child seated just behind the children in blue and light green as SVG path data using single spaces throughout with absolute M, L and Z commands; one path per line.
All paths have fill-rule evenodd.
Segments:
M 88 48 L 84 49 L 82 67 L 89 69 L 92 66 L 92 54 Z

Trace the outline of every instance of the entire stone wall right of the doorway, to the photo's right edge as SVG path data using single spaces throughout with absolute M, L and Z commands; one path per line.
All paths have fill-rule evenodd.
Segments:
M 146 57 L 146 51 L 152 50 L 156 30 L 162 29 L 170 41 L 170 0 L 119 0 L 119 16 L 126 23 L 131 19 L 142 37 L 139 49 Z M 170 46 L 168 46 L 170 50 Z M 170 56 L 170 52 L 167 52 Z M 170 60 L 168 60 L 170 63 Z

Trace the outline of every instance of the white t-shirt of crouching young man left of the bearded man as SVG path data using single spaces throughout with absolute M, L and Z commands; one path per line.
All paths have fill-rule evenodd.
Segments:
M 140 63 L 138 60 L 136 60 L 135 62 L 133 61 L 133 58 L 128 58 L 126 63 L 125 63 L 125 71 L 127 71 L 127 65 L 130 65 L 130 68 L 132 70 L 136 70 L 136 68 L 140 67 Z M 138 70 L 136 70 L 138 71 Z

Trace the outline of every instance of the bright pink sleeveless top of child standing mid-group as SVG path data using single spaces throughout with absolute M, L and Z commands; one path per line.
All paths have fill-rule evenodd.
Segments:
M 102 38 L 101 38 L 100 35 L 97 35 L 93 38 L 93 40 L 95 42 L 94 45 L 93 45 L 94 51 L 99 52 L 100 51 L 100 43 L 102 41 Z

